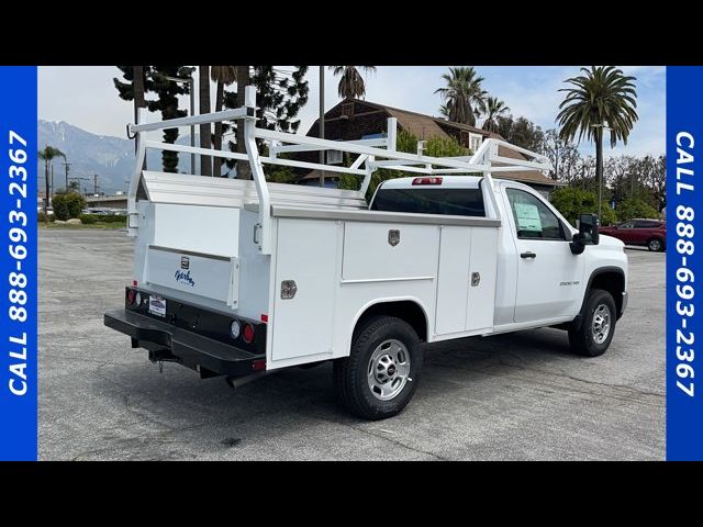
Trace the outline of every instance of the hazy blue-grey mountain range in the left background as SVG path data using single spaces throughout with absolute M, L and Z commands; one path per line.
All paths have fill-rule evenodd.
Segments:
M 134 141 L 98 135 L 74 126 L 65 121 L 38 120 L 38 148 L 49 145 L 66 154 L 69 164 L 68 177 L 79 179 L 81 190 L 92 192 L 94 178 L 98 175 L 98 191 L 113 194 L 126 191 L 129 180 L 134 170 Z M 198 137 L 196 136 L 196 141 Z M 178 144 L 190 144 L 190 135 L 180 136 Z M 160 152 L 150 149 L 146 159 L 148 167 L 160 167 Z M 190 172 L 190 155 L 179 154 L 178 170 Z M 44 164 L 40 161 L 37 175 L 40 190 L 44 189 Z M 64 159 L 54 160 L 54 188 L 66 186 Z

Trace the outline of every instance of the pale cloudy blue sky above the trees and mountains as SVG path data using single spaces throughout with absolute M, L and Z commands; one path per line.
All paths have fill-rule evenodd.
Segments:
M 376 72 L 365 74 L 366 99 L 371 102 L 438 115 L 442 75 L 447 66 L 378 66 Z M 515 116 L 525 116 L 543 130 L 556 127 L 555 117 L 563 99 L 563 80 L 579 75 L 578 66 L 477 66 L 486 80 L 483 88 L 505 101 Z M 605 155 L 660 155 L 666 150 L 666 68 L 627 66 L 625 74 L 637 78 L 637 113 L 639 121 L 627 146 L 614 149 L 605 145 Z M 320 106 L 319 69 L 308 72 L 310 98 L 301 110 L 300 133 L 305 133 L 316 119 Z M 125 125 L 134 120 L 132 102 L 118 97 L 112 79 L 120 77 L 114 66 L 43 66 L 38 71 L 38 116 L 47 121 L 66 121 L 99 135 L 125 137 Z M 339 102 L 338 78 L 325 71 L 325 109 Z M 214 87 L 212 100 L 214 101 Z M 196 102 L 198 104 L 198 102 Z M 187 97 L 181 108 L 188 108 Z M 150 120 L 156 115 L 150 114 Z M 479 124 L 480 124 L 479 120 Z M 593 152 L 583 143 L 584 154 Z

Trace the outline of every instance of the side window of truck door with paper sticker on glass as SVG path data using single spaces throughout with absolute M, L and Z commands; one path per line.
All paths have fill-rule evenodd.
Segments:
M 561 222 L 542 200 L 524 190 L 506 189 L 518 238 L 565 239 Z

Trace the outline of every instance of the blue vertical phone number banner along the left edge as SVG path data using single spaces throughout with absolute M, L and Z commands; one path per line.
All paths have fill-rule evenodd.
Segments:
M 0 460 L 36 460 L 36 67 L 0 67 Z

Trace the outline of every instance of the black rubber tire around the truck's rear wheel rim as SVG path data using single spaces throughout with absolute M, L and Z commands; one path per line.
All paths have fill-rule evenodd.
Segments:
M 388 340 L 404 345 L 410 361 L 410 373 L 390 400 L 382 401 L 369 386 L 369 369 L 375 351 Z M 391 368 L 388 368 L 391 371 Z M 399 414 L 410 402 L 420 381 L 422 350 L 413 327 L 393 316 L 375 316 L 361 323 L 354 332 L 349 357 L 334 361 L 333 375 L 335 394 L 342 405 L 357 417 L 369 421 L 386 419 Z M 393 370 L 392 373 L 399 371 Z M 394 382 L 394 380 L 393 380 Z

